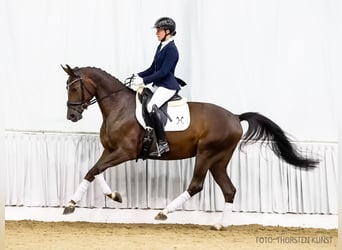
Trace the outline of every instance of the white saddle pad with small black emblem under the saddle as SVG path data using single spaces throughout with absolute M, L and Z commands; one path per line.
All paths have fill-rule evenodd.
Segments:
M 167 113 L 171 120 L 167 119 L 165 125 L 165 131 L 182 131 L 189 127 L 190 125 L 190 111 L 189 105 L 186 99 L 182 97 L 179 101 L 168 102 Z M 143 128 L 146 128 L 144 118 L 142 116 L 142 106 L 138 98 L 138 93 L 136 95 L 136 109 L 135 116 Z

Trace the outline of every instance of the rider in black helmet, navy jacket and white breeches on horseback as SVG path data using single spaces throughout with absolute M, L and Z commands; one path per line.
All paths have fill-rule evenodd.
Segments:
M 151 117 L 151 125 L 155 129 L 157 151 L 151 153 L 151 155 L 159 157 L 170 150 L 165 138 L 164 126 L 160 120 L 159 108 L 180 89 L 179 83 L 174 76 L 179 56 L 174 42 L 174 36 L 176 35 L 175 21 L 169 17 L 162 17 L 155 22 L 153 28 L 156 28 L 156 35 L 160 44 L 151 66 L 145 71 L 135 74 L 132 84 L 144 84 L 153 92 L 153 96 L 147 104 L 147 111 Z M 146 133 L 151 133 L 151 131 L 153 129 L 147 126 Z

